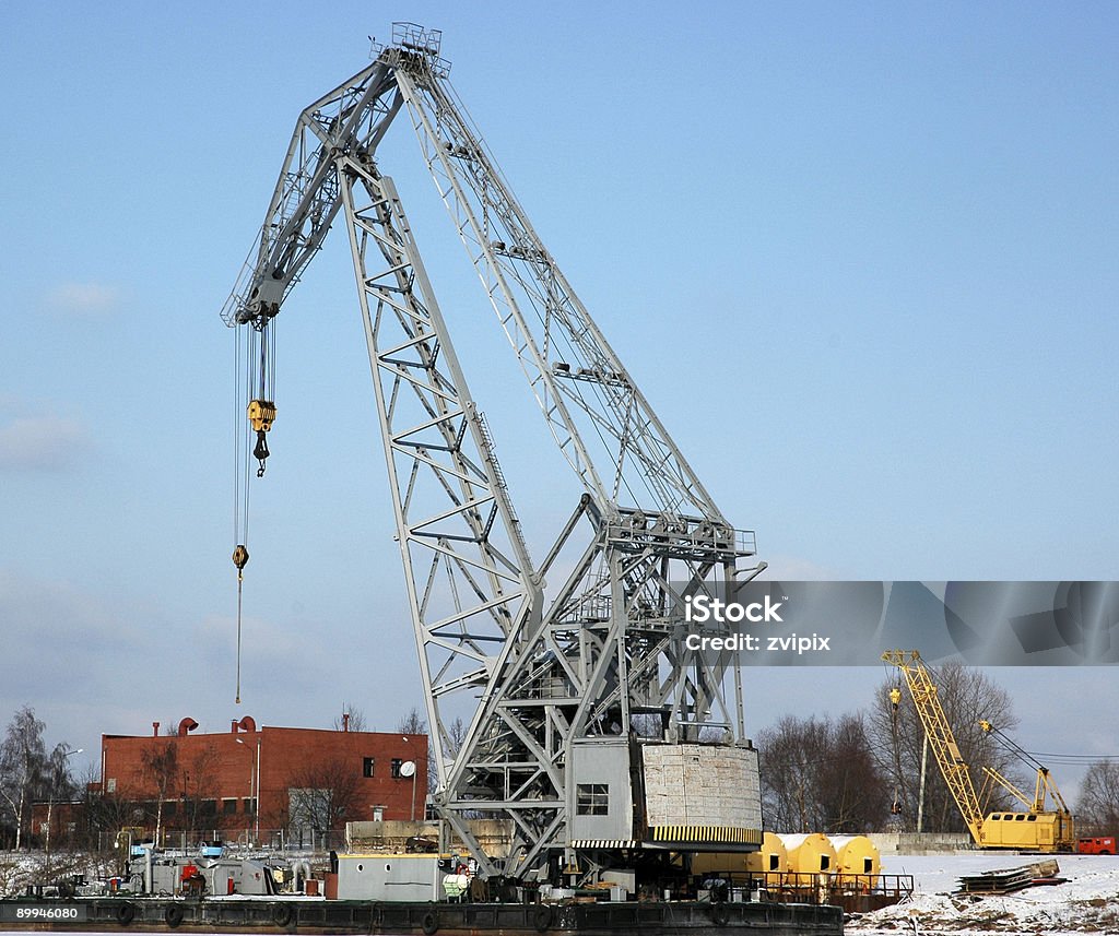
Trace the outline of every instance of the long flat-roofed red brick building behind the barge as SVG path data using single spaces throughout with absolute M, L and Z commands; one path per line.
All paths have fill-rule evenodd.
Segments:
M 197 727 L 185 718 L 172 736 L 158 722 L 148 736 L 103 735 L 102 800 L 176 835 L 302 836 L 347 821 L 423 819 L 426 735 L 257 728 L 248 717 L 225 732 Z

